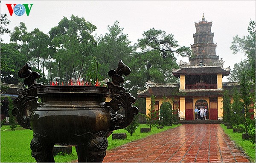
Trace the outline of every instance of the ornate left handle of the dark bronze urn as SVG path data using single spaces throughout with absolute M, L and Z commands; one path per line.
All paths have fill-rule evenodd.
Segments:
M 20 126 L 25 129 L 31 129 L 30 114 L 38 106 L 38 97 L 36 97 L 36 88 L 42 86 L 36 83 L 36 79 L 40 77 L 38 72 L 31 71 L 31 66 L 26 63 L 19 71 L 18 75 L 24 78 L 24 84 L 28 88 L 23 89 L 18 97 L 14 100 L 14 108 L 12 114 L 16 117 Z

